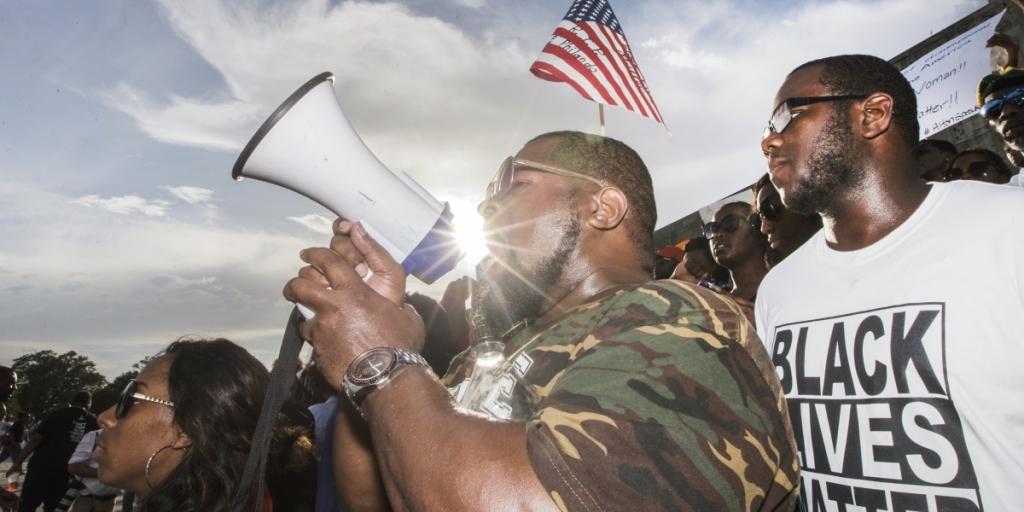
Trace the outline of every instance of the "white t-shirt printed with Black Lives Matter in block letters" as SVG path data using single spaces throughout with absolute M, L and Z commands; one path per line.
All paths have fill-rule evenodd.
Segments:
M 1024 509 L 1024 190 L 933 183 L 858 251 L 819 231 L 756 307 L 808 510 Z

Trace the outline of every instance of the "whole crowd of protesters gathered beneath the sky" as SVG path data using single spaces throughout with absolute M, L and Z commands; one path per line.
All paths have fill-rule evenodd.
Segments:
M 979 101 L 1016 162 L 1024 72 Z M 260 512 L 1024 503 L 1019 180 L 919 140 L 912 88 L 877 57 L 807 62 L 770 106 L 751 202 L 683 247 L 652 247 L 640 156 L 572 131 L 505 159 L 478 209 L 487 264 L 439 303 L 336 221 L 284 291 L 315 312 L 313 360 Z M 994 279 L 959 276 L 979 266 Z M 82 392 L 11 425 L 8 476 L 29 462 L 0 506 L 108 512 L 124 489 L 145 512 L 254 511 L 236 497 L 268 386 L 228 340 L 171 343 L 98 418 Z

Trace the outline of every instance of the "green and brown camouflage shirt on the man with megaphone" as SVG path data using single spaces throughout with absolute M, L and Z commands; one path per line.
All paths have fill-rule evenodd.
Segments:
M 620 289 L 524 329 L 505 354 L 540 399 L 526 449 L 561 510 L 795 506 L 778 378 L 725 296 L 678 281 Z M 460 355 L 445 385 L 471 369 Z

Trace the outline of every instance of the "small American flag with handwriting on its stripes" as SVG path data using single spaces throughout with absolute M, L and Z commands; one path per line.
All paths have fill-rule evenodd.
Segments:
M 529 71 L 544 80 L 565 82 L 591 101 L 624 106 L 665 125 L 605 0 L 572 2 Z

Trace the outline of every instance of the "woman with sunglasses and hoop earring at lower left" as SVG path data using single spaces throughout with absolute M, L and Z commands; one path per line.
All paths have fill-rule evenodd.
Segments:
M 228 340 L 171 343 L 99 415 L 99 480 L 135 493 L 137 511 L 227 511 L 269 381 Z

